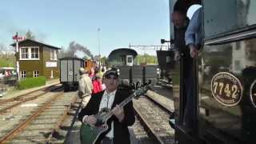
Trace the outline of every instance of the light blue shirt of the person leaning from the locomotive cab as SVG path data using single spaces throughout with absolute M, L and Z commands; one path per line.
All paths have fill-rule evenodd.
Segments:
M 196 10 L 185 33 L 186 46 L 202 45 L 202 7 Z

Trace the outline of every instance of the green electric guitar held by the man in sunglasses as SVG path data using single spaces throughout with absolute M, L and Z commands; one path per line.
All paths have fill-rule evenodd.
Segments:
M 148 90 L 149 86 L 144 86 L 138 90 L 134 90 L 133 94 L 130 94 L 129 97 L 124 99 L 119 106 L 126 106 L 128 102 L 132 100 L 132 98 L 141 96 L 142 94 L 145 94 Z M 106 130 L 108 130 L 108 126 L 106 122 L 109 120 L 109 118 L 113 115 L 112 110 L 110 109 L 102 109 L 98 112 L 98 114 L 95 114 L 95 118 L 97 118 L 97 122 L 95 126 L 90 126 L 89 124 L 82 123 L 82 126 L 80 128 L 80 140 L 82 144 L 95 144 L 101 141 L 102 133 L 104 133 Z

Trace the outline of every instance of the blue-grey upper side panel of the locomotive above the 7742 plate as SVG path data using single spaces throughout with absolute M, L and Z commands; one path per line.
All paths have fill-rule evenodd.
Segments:
M 256 24 L 256 1 L 214 0 L 204 2 L 204 30 L 206 38 Z M 218 10 L 216 10 L 218 7 Z M 226 7 L 229 7 L 228 9 Z

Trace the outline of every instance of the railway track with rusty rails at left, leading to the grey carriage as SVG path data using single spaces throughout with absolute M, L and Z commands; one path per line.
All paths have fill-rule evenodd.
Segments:
M 13 114 L 14 118 L 6 121 L 3 120 L 5 115 L 0 115 L 0 143 L 50 142 L 66 118 L 74 96 L 63 94 L 62 91 L 48 91 L 30 102 L 37 103 L 38 106 L 13 107 L 9 113 Z

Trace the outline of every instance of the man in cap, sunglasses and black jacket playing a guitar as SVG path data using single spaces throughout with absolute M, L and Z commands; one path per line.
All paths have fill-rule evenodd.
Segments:
M 135 122 L 133 103 L 129 101 L 122 106 L 118 106 L 118 104 L 123 103 L 132 93 L 130 90 L 118 89 L 118 72 L 115 69 L 106 71 L 103 82 L 106 85 L 106 90 L 92 94 L 90 101 L 78 115 L 78 119 L 83 122 L 83 126 L 87 125 L 90 129 L 108 127 L 103 133 L 95 132 L 95 134 L 99 133 L 99 136 L 91 143 L 130 144 L 128 126 L 132 126 Z M 104 112 L 104 110 L 110 113 L 110 118 L 106 121 L 107 126 L 104 126 L 102 119 L 97 117 L 98 112 Z M 100 129 L 94 131 L 100 131 Z M 88 133 L 93 132 L 83 130 L 80 135 L 84 138 Z M 86 142 L 90 144 L 90 142 Z

